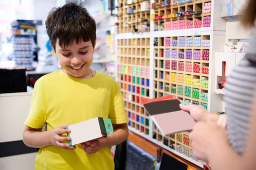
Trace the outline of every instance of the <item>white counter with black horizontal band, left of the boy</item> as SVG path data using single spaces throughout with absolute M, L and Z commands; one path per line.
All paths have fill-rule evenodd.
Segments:
M 22 139 L 32 92 L 0 94 L 0 169 L 34 170 L 37 148 Z

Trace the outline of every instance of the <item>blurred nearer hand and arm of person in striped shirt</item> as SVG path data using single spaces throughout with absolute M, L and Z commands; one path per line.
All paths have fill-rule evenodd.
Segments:
M 195 157 L 209 162 L 211 170 L 256 170 L 256 90 L 243 155 L 229 144 L 227 131 L 216 123 L 198 122 L 190 133 Z

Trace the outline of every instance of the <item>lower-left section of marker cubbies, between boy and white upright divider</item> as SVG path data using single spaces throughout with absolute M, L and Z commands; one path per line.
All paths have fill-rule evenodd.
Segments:
M 129 126 L 149 135 L 149 117 L 139 100 L 149 97 L 149 38 L 119 39 L 117 63 Z

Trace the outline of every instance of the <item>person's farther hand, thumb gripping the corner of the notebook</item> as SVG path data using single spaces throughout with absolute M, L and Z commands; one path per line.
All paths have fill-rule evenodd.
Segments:
M 206 110 L 201 105 L 184 105 L 180 104 L 180 108 L 186 112 L 188 112 L 191 117 L 196 121 L 203 121 L 203 122 L 217 122 L 219 119 L 219 115 L 213 114 Z

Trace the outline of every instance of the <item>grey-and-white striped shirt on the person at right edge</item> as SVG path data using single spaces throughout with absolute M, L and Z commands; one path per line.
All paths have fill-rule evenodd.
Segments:
M 255 32 L 256 33 L 256 32 Z M 254 90 L 256 87 L 256 34 L 244 58 L 234 68 L 225 84 L 225 111 L 231 146 L 244 153 L 248 136 Z M 256 113 L 254 113 L 256 114 Z

